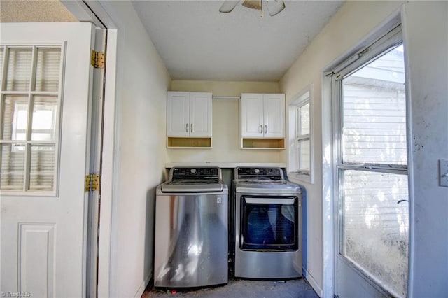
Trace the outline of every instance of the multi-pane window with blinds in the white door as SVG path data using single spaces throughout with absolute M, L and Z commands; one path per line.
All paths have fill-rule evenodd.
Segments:
M 0 58 L 0 190 L 55 192 L 62 45 L 3 45 Z

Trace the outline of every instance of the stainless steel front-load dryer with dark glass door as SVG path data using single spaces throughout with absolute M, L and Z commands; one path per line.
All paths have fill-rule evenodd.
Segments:
M 235 277 L 302 276 L 302 190 L 281 168 L 238 167 Z

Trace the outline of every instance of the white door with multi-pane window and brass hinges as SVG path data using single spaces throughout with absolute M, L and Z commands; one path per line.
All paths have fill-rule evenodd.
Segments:
M 1 24 L 1 292 L 85 296 L 94 28 Z

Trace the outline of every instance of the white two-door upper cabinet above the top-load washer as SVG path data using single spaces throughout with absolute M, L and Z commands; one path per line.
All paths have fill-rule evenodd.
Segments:
M 211 137 L 211 93 L 167 94 L 167 136 Z

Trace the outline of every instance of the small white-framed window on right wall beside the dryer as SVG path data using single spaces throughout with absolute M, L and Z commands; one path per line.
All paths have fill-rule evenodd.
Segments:
M 312 183 L 311 90 L 306 87 L 289 105 L 288 176 Z

